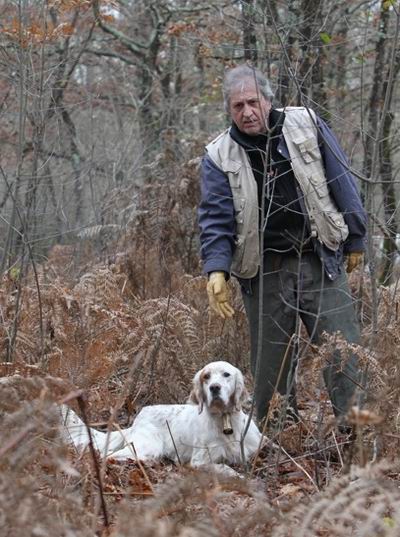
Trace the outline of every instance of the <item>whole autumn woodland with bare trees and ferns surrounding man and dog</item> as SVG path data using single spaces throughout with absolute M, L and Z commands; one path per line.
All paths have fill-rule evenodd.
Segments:
M 395 0 L 0 2 L 1 535 L 399 535 L 399 31 Z M 251 388 L 240 293 L 210 316 L 196 221 L 245 60 L 331 124 L 368 210 L 358 440 L 343 458 L 320 379 L 346 346 L 300 340 L 303 422 L 243 479 L 78 456 L 61 400 L 122 427 L 216 357 Z

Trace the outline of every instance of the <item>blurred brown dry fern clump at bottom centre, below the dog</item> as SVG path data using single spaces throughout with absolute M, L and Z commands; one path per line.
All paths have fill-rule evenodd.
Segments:
M 191 471 L 157 487 L 154 498 L 123 506 L 115 536 L 261 537 L 279 519 L 254 483 Z

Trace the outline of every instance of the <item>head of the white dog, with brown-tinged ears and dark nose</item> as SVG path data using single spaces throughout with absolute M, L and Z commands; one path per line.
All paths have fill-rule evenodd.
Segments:
M 247 397 L 241 371 L 228 362 L 211 362 L 198 371 L 193 379 L 190 401 L 206 405 L 212 414 L 239 411 Z

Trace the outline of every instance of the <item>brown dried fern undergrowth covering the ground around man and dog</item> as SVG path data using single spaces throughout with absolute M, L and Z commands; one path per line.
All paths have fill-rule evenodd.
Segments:
M 353 281 L 363 289 L 363 345 L 356 350 L 370 384 L 367 412 L 353 416 L 359 437 L 351 449 L 321 389 L 329 339 L 302 360 L 302 423 L 278 430 L 278 447 L 238 468 L 242 479 L 168 461 L 105 464 L 61 442 L 55 403 L 69 396 L 77 408 L 76 389 L 91 421 L 125 426 L 144 404 L 185 401 L 193 373 L 211 359 L 238 365 L 251 387 L 238 288 L 232 284 L 234 319 L 210 317 L 196 239 L 186 233 L 195 229 L 195 175 L 192 163 L 159 202 L 155 178 L 103 261 L 94 261 L 88 244 L 54 248 L 39 267 L 42 326 L 32 274 L 22 282 L 18 310 L 18 282 L 4 278 L 3 357 L 18 330 L 12 362 L 0 364 L 1 535 L 397 536 L 400 293 L 379 290 L 372 332 L 370 290 L 360 277 Z M 335 345 L 346 351 L 345 343 Z

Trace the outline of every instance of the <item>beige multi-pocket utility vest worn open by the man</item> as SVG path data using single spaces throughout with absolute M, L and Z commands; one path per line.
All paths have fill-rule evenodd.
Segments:
M 336 251 L 348 236 L 343 215 L 329 195 L 316 116 L 303 107 L 278 109 L 285 113 L 282 134 L 289 151 L 293 173 L 304 196 L 311 234 Z M 310 116 L 311 114 L 311 116 Z M 236 221 L 236 248 L 231 272 L 252 278 L 260 265 L 259 206 L 257 183 L 246 151 L 235 142 L 229 129 L 206 147 L 208 156 L 229 179 Z

